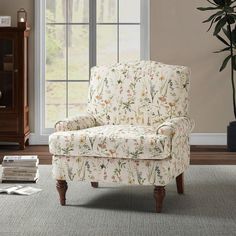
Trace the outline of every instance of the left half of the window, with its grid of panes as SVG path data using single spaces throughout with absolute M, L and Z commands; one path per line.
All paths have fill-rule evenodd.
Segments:
M 46 0 L 46 128 L 86 108 L 92 66 L 89 16 L 88 0 Z

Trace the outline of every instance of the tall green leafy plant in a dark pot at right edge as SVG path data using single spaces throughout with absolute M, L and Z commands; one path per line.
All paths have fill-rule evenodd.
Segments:
M 233 90 L 233 112 L 235 120 L 227 128 L 227 146 L 229 151 L 236 151 L 236 94 L 234 71 L 236 70 L 236 0 L 206 0 L 209 7 L 198 7 L 200 11 L 213 11 L 213 14 L 203 23 L 209 23 L 208 31 L 214 26 L 213 35 L 223 44 L 224 48 L 215 53 L 228 52 L 220 71 L 230 62 L 231 84 Z

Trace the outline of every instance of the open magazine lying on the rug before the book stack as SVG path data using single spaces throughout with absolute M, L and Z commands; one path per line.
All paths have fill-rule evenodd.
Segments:
M 37 192 L 40 192 L 42 189 L 34 188 L 30 186 L 11 186 L 6 188 L 0 188 L 0 193 L 7 193 L 7 194 L 20 194 L 20 195 L 31 195 Z

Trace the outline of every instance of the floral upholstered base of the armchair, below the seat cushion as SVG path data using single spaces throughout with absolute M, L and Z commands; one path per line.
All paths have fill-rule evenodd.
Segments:
M 97 157 L 53 156 L 53 178 L 131 185 L 165 186 L 183 173 L 188 156 L 180 160 L 132 160 Z

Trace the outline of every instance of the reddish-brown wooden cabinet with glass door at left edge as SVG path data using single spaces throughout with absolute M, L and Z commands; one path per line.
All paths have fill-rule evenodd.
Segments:
M 28 37 L 26 27 L 0 28 L 0 142 L 29 139 Z

